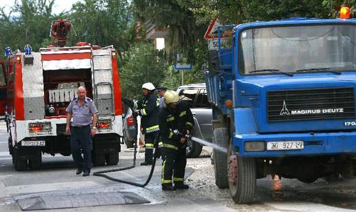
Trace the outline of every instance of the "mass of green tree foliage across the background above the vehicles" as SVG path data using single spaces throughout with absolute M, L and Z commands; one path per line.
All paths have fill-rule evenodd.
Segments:
M 172 69 L 174 52 L 182 52 L 193 64 L 193 70 L 185 73 L 185 83 L 203 82 L 201 67 L 208 61 L 203 37 L 215 17 L 224 24 L 295 16 L 328 19 L 337 17 L 344 3 L 356 17 L 356 0 L 84 0 L 59 15 L 53 15 L 54 3 L 16 0 L 10 12 L 0 8 L 0 48 L 16 50 L 30 44 L 38 51 L 50 44 L 52 21 L 68 19 L 73 26 L 68 46 L 88 41 L 116 48 L 124 95 L 139 95 L 146 81 L 177 88 L 181 73 Z M 146 21 L 168 29 L 169 52 L 154 50 L 152 42 L 145 41 Z

